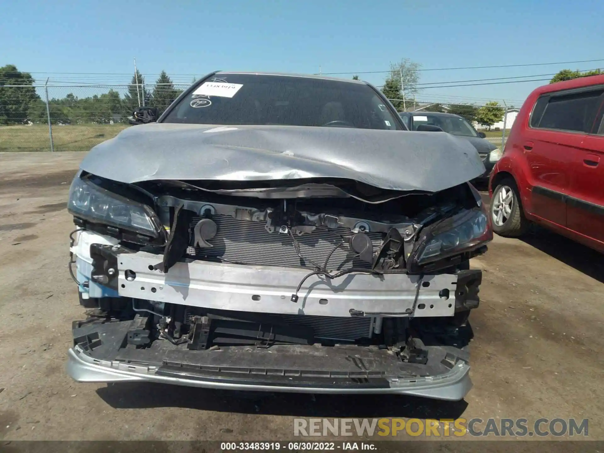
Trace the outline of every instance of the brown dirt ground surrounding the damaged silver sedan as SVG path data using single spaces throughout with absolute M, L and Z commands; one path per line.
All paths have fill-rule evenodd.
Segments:
M 576 417 L 604 439 L 604 259 L 544 230 L 495 237 L 472 262 L 484 276 L 471 316 L 474 388 L 461 402 L 77 384 L 64 368 L 83 315 L 65 205 L 82 158 L 0 153 L 0 438 L 292 440 L 294 417 Z

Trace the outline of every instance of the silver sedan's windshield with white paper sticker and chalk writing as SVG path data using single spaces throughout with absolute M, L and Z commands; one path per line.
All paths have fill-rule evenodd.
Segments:
M 182 98 L 164 123 L 403 129 L 368 85 L 312 77 L 222 73 Z

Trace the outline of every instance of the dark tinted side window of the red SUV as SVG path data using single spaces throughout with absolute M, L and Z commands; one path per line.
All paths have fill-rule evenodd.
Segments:
M 530 125 L 544 129 L 590 132 L 604 89 L 574 94 L 549 94 L 533 109 Z

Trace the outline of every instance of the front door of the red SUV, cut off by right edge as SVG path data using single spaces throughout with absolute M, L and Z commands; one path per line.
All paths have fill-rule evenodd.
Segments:
M 567 227 L 604 247 L 604 94 L 595 117 L 591 133 L 583 137 L 573 162 Z

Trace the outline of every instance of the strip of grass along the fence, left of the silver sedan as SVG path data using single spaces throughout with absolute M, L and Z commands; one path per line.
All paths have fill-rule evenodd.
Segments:
M 55 151 L 88 151 L 93 146 L 115 137 L 127 124 L 53 124 Z M 0 152 L 50 151 L 48 125 L 0 126 Z

